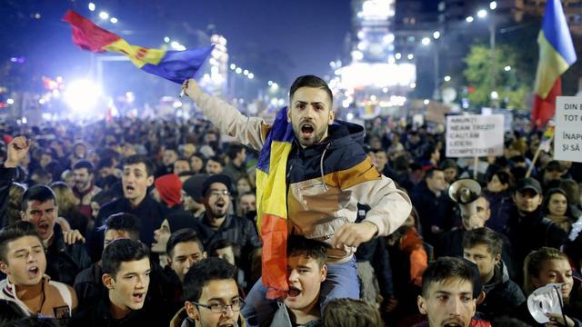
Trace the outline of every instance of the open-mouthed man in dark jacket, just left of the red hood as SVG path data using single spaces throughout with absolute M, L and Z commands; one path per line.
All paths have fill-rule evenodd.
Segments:
M 89 249 L 94 262 L 99 261 L 103 252 L 104 234 L 100 227 L 105 219 L 115 213 L 131 213 L 139 218 L 139 239 L 148 246 L 154 241 L 154 230 L 162 223 L 165 208 L 147 196 L 147 188 L 154 183 L 154 163 L 144 155 L 132 155 L 125 159 L 121 176 L 124 196 L 100 209 L 95 227 L 90 235 Z

